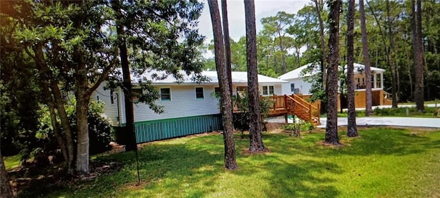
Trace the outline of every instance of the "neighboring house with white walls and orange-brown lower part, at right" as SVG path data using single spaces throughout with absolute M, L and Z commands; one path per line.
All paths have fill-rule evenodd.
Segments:
M 307 69 L 310 66 L 314 69 Z M 311 83 L 305 78 L 313 79 L 315 75 L 318 75 L 319 63 L 309 63 L 294 69 L 286 74 L 278 77 L 280 80 L 286 80 L 289 83 L 283 84 L 283 94 L 297 94 L 302 95 L 303 98 L 311 96 L 310 89 Z M 344 67 L 347 72 L 347 65 Z M 371 68 L 371 87 L 373 91 L 373 106 L 391 104 L 390 95 L 384 91 L 384 72 L 385 69 L 370 67 Z M 354 80 L 355 80 L 355 106 L 356 108 L 365 107 L 365 66 L 354 63 Z

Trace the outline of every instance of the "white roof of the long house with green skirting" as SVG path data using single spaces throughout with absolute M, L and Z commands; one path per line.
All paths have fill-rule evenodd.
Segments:
M 172 74 L 166 75 L 166 72 L 159 71 L 146 71 L 143 74 L 131 74 L 131 80 L 133 83 L 137 83 L 140 80 L 151 80 L 153 84 L 177 84 L 177 83 L 197 83 L 194 78 L 195 74 L 187 75 L 185 72 L 180 72 L 183 77 L 181 80 L 177 80 Z M 163 78 L 157 78 L 157 76 L 163 76 Z M 215 71 L 205 71 L 201 72 L 201 76 L 207 78 L 207 81 L 199 83 L 213 83 L 218 84 L 219 79 L 217 78 L 217 72 Z M 248 83 L 248 72 L 232 72 L 232 83 Z M 259 74 L 259 83 L 287 83 L 285 80 L 279 80 L 269 76 L 264 76 Z

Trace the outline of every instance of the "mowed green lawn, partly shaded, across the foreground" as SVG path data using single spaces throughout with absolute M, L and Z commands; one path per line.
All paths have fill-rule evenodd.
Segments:
M 325 133 L 264 133 L 270 153 L 248 155 L 236 135 L 238 170 L 223 166 L 223 136 L 153 142 L 135 154 L 100 155 L 122 162 L 115 173 L 50 191 L 44 197 L 440 197 L 440 131 L 340 131 L 342 147 L 322 146 Z

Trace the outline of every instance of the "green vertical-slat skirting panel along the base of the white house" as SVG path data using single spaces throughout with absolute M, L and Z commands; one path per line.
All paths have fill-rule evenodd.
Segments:
M 136 142 L 152 142 L 221 129 L 221 115 L 135 122 Z

